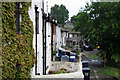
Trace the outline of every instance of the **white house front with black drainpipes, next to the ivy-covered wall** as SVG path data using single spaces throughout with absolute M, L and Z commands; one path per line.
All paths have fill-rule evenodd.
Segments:
M 44 12 L 42 0 L 32 0 L 29 15 L 34 26 L 33 47 L 36 63 L 31 69 L 31 76 L 46 75 L 49 72 L 53 54 L 53 21 Z

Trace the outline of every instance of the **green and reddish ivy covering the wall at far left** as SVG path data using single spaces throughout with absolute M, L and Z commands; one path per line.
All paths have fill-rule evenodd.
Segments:
M 2 77 L 6 79 L 30 78 L 35 63 L 33 23 L 28 14 L 31 3 L 21 4 L 22 33 L 16 34 L 15 2 L 2 2 Z

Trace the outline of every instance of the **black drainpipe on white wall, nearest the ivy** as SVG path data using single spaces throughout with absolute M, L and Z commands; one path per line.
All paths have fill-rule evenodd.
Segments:
M 35 5 L 35 31 L 36 31 L 36 63 L 35 63 L 35 75 L 40 75 L 40 73 L 37 73 L 37 14 L 39 14 L 39 12 L 37 11 L 38 7 Z

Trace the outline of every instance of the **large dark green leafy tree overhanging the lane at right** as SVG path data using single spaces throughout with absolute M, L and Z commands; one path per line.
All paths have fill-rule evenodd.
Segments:
M 120 2 L 96 2 L 73 16 L 74 29 L 91 44 L 106 51 L 107 60 L 118 62 L 120 57 Z

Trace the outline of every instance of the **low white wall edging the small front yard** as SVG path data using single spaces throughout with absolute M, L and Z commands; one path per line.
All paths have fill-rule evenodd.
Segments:
M 59 64 L 59 62 L 53 62 L 53 63 L 57 63 Z M 68 64 L 72 64 L 70 62 L 67 62 Z M 74 62 L 73 62 L 74 63 Z M 62 63 L 63 64 L 63 63 Z M 82 73 L 82 62 L 81 62 L 81 57 L 79 58 L 79 62 L 76 63 L 77 65 L 73 64 L 74 66 L 78 66 L 76 68 L 77 71 L 76 72 L 72 72 L 72 73 L 63 73 L 63 74 L 48 74 L 48 75 L 32 75 L 31 76 L 31 79 L 42 79 L 42 78 L 64 78 L 62 80 L 66 80 L 66 78 L 69 78 L 70 80 L 84 80 L 84 75 Z M 73 66 L 72 65 L 72 66 Z M 67 65 L 66 65 L 67 66 Z M 71 65 L 68 65 L 68 66 L 71 66 Z

